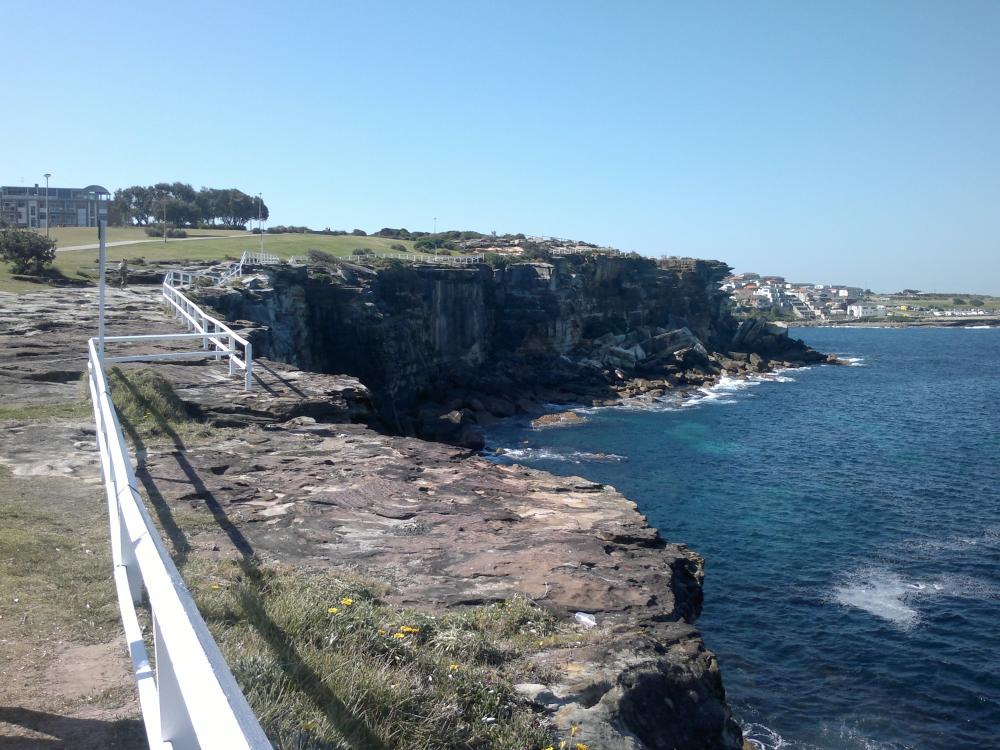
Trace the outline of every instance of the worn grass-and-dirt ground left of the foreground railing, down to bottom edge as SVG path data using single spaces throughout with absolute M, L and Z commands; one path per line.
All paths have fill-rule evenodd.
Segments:
M 84 428 L 71 425 L 5 421 L 0 431 L 5 442 L 52 441 L 54 458 L 60 441 L 83 436 Z M 94 467 L 58 459 L 4 463 L 0 748 L 146 747 Z

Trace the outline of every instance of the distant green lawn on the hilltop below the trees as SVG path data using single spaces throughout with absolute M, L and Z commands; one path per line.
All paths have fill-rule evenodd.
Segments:
M 198 230 L 199 233 L 201 230 Z M 86 237 L 81 234 L 75 235 L 74 239 L 66 240 L 64 244 L 85 244 L 96 242 L 97 236 L 94 229 L 59 229 L 55 232 L 75 232 L 87 233 Z M 114 242 L 113 232 L 124 232 L 141 234 L 141 239 L 149 239 L 145 232 L 135 228 L 112 228 L 108 230 L 108 241 Z M 206 230 L 216 235 L 223 235 L 225 239 L 204 239 L 204 240 L 167 240 L 163 242 L 149 242 L 139 245 L 120 245 L 109 247 L 107 257 L 110 264 L 117 264 L 122 258 L 142 258 L 147 261 L 177 261 L 178 265 L 183 265 L 190 261 L 203 260 L 236 260 L 244 250 L 260 249 L 260 237 L 246 232 L 224 232 L 221 230 Z M 69 235 L 67 235 L 69 236 Z M 119 236 L 118 239 L 140 239 L 138 236 Z M 60 237 L 60 241 L 63 239 Z M 379 253 L 392 253 L 391 245 L 401 244 L 407 250 L 412 250 L 413 243 L 405 240 L 392 240 L 382 237 L 351 237 L 351 236 L 331 236 L 323 234 L 268 234 L 264 235 L 264 251 L 273 253 L 280 258 L 290 258 L 293 255 L 307 255 L 310 250 L 322 250 L 338 256 L 348 256 L 356 248 L 363 248 Z M 53 269 L 63 276 L 71 279 L 84 278 L 88 281 L 96 280 L 97 276 L 97 250 L 69 250 L 59 253 L 56 256 Z M 6 265 L 0 265 L 0 292 L 13 292 L 23 294 L 25 292 L 42 291 L 48 286 L 31 282 L 19 281 L 11 277 L 10 270 Z

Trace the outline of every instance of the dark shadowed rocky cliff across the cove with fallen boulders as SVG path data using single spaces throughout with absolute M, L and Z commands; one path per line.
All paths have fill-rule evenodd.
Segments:
M 739 324 L 718 261 L 571 255 L 492 269 L 349 263 L 260 269 L 203 301 L 248 321 L 255 350 L 371 390 L 393 432 L 482 444 L 495 417 L 607 403 L 821 355 Z

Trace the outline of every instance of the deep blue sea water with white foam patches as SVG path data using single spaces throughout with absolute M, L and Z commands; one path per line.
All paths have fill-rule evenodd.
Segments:
M 705 556 L 698 625 L 758 747 L 1000 747 L 1000 330 L 794 335 L 854 366 L 490 441 Z

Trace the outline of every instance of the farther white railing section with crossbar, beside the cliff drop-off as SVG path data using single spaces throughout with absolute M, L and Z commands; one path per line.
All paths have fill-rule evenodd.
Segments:
M 202 349 L 207 350 L 206 356 L 219 359 L 223 356 L 229 358 L 229 374 L 235 375 L 237 368 L 243 370 L 243 383 L 246 390 L 253 387 L 253 345 L 243 336 L 233 331 L 218 318 L 213 318 L 205 313 L 198 305 L 192 302 L 177 287 L 183 284 L 190 284 L 194 279 L 199 278 L 197 272 L 170 271 L 163 277 L 163 297 L 174 308 L 177 316 L 183 319 L 192 334 L 154 334 L 149 336 L 107 336 L 105 341 L 153 341 L 171 339 L 200 339 Z M 200 335 L 199 335 L 200 334 Z M 242 352 L 238 347 L 242 347 Z M 240 354 L 242 353 L 242 357 Z M 156 359 L 175 359 L 179 357 L 190 357 L 191 352 L 170 352 L 167 354 L 147 354 L 135 357 L 108 357 L 108 362 L 138 362 Z

